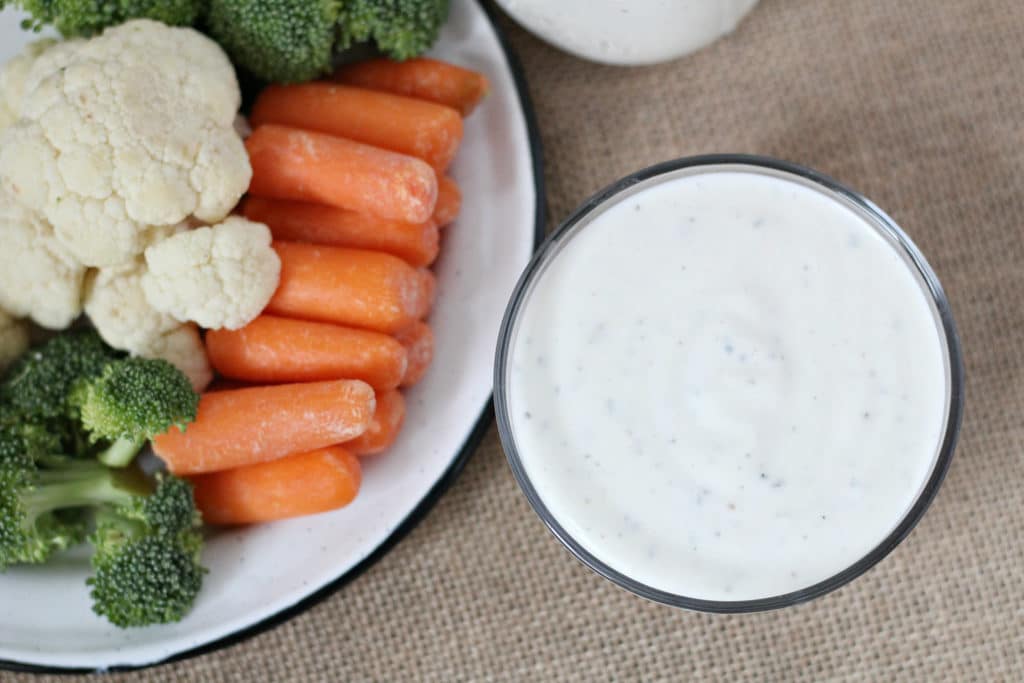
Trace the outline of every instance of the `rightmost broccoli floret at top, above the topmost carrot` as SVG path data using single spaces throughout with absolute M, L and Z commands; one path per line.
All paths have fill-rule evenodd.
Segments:
M 422 54 L 447 19 L 449 0 L 347 0 L 338 22 L 339 47 L 373 40 L 394 59 Z

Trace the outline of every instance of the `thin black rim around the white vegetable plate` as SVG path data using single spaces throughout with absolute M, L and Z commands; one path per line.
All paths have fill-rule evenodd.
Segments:
M 529 96 L 529 89 L 526 85 L 526 76 L 523 72 L 522 65 L 519 61 L 519 57 L 516 55 L 515 50 L 512 48 L 508 41 L 508 36 L 505 31 L 501 28 L 498 23 L 497 11 L 492 6 L 488 1 L 479 1 L 477 4 L 483 9 L 484 14 L 486 14 L 487 19 L 490 22 L 490 27 L 498 37 L 498 42 L 501 44 L 502 50 L 505 53 L 505 59 L 508 62 L 509 71 L 512 74 L 512 79 L 515 82 L 516 91 L 519 95 L 519 106 L 522 111 L 523 118 L 526 122 L 526 135 L 529 139 L 529 152 L 530 152 L 530 162 L 531 169 L 534 172 L 534 189 L 536 195 L 536 208 L 534 212 L 534 244 L 532 249 L 536 250 L 537 247 L 544 240 L 546 220 L 547 220 L 547 195 L 545 194 L 545 183 L 544 183 L 544 150 L 541 142 L 540 129 L 537 124 L 537 115 L 534 111 L 532 100 Z M 404 539 L 410 531 L 412 531 L 423 519 L 427 516 L 437 501 L 440 500 L 441 496 L 449 489 L 449 487 L 455 483 L 455 480 L 459 478 L 462 470 L 466 467 L 466 463 L 469 462 L 470 457 L 476 452 L 477 446 L 483 440 L 484 434 L 487 433 L 487 429 L 494 420 L 494 408 L 493 401 L 488 398 L 484 403 L 483 410 L 480 412 L 480 417 L 477 418 L 476 423 L 473 425 L 472 431 L 470 431 L 469 436 L 466 438 L 465 443 L 463 443 L 462 449 L 459 451 L 455 460 L 444 471 L 441 477 L 434 483 L 427 495 L 420 501 L 419 505 L 407 516 L 400 524 L 391 532 L 389 537 L 377 547 L 374 552 L 364 558 L 358 564 L 353 566 L 351 569 L 343 573 L 338 579 L 334 580 L 327 586 L 318 589 L 314 593 L 301 599 L 294 605 L 286 607 L 281 611 L 267 616 L 252 626 L 248 626 L 244 629 L 236 631 L 231 634 L 218 638 L 212 642 L 206 643 L 205 645 L 200 645 L 199 647 L 194 647 L 177 654 L 172 654 L 169 657 L 159 659 L 156 661 L 151 661 L 144 665 L 137 666 L 113 666 L 106 669 L 102 669 L 102 673 L 116 673 L 116 672 L 130 672 L 130 671 L 140 671 L 143 669 L 150 669 L 153 667 L 159 667 L 161 665 L 170 664 L 172 661 L 181 661 L 182 659 L 190 659 L 193 657 L 200 656 L 202 654 L 209 654 L 210 652 L 215 652 L 217 650 L 223 649 L 225 647 L 230 647 L 238 643 L 241 643 L 253 636 L 257 636 L 265 631 L 269 631 L 281 624 L 289 621 L 290 618 L 301 614 L 310 607 L 318 604 L 319 602 L 331 597 L 339 590 L 344 588 L 349 582 L 355 580 L 360 574 L 362 574 L 367 569 L 373 566 L 379 559 L 384 557 L 392 548 L 394 548 L 402 539 Z M 18 673 L 30 673 L 30 674 L 88 674 L 88 673 L 100 673 L 96 669 L 89 667 L 46 667 L 33 664 L 25 664 L 22 661 L 14 661 L 9 659 L 0 659 L 0 670 L 13 671 Z

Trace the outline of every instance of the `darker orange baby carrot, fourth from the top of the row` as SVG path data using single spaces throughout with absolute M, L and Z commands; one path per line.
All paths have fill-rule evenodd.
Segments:
M 372 249 L 394 254 L 417 266 L 433 263 L 440 247 L 433 220 L 404 223 L 321 204 L 260 197 L 247 199 L 242 211 L 246 218 L 265 223 L 274 240 Z

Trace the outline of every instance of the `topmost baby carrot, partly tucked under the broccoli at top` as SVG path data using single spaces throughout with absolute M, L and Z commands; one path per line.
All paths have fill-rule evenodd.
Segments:
M 463 116 L 476 108 L 489 88 L 483 74 L 427 57 L 360 61 L 342 67 L 334 78 L 341 83 L 446 104 Z

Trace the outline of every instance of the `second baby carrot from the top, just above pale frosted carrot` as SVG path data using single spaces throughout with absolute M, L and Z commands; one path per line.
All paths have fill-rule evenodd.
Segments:
M 438 171 L 462 142 L 462 118 L 449 106 L 335 83 L 271 85 L 256 99 L 250 121 L 347 137 L 422 159 Z

